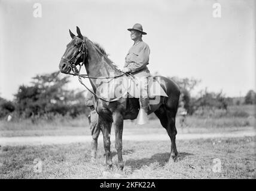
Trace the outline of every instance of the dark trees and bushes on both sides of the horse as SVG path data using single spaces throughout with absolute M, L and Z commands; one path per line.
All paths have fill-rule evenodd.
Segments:
M 199 109 L 224 109 L 234 104 L 233 98 L 225 97 L 222 91 L 209 92 L 207 88 L 200 91 L 197 97 L 191 96 L 191 91 L 200 83 L 194 78 L 170 78 L 181 89 L 179 101 L 183 102 L 188 114 L 193 115 Z M 8 101 L 0 97 L 0 118 L 6 118 L 10 113 L 17 118 L 47 119 L 55 115 L 88 115 L 85 91 L 68 90 L 69 76 L 61 77 L 59 72 L 36 75 L 30 85 L 20 85 L 14 100 Z M 236 103 L 236 104 L 241 104 Z M 249 90 L 242 104 L 256 104 L 256 94 Z

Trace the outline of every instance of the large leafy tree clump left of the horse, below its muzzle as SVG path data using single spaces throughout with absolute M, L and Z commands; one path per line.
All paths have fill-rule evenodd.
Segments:
M 59 72 L 36 75 L 31 85 L 20 85 L 13 101 L 0 98 L 0 118 L 12 113 L 17 118 L 51 118 L 69 115 L 72 118 L 88 113 L 84 91 L 68 90 L 69 76 Z

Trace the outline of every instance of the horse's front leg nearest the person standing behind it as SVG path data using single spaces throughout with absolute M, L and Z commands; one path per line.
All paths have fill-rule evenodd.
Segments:
M 111 124 L 112 122 L 100 120 L 100 128 L 103 134 L 103 144 L 106 154 L 106 165 L 108 168 L 112 167 L 112 159 L 110 152 L 110 133 L 111 133 Z

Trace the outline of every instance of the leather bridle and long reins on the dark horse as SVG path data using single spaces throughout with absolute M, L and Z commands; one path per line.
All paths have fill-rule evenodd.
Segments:
M 75 54 L 74 54 L 74 56 L 72 56 L 71 58 L 69 58 L 68 60 L 66 59 L 66 58 L 64 58 L 64 57 L 62 57 L 62 60 L 65 60 L 66 61 L 66 63 L 68 63 L 68 67 L 69 67 L 69 72 L 67 73 L 68 75 L 73 75 L 73 76 L 78 76 L 78 80 L 79 80 L 79 82 L 84 86 L 84 87 L 86 87 L 86 89 L 88 90 L 88 91 L 90 91 L 90 93 L 92 93 L 93 95 L 95 95 L 97 98 L 99 98 L 100 100 L 103 100 L 103 101 L 117 101 L 120 97 L 118 97 L 118 98 L 114 98 L 113 100 L 105 100 L 104 98 L 102 98 L 102 97 L 100 97 L 100 96 L 97 96 L 97 94 L 95 94 L 92 90 L 90 90 L 90 88 L 88 88 L 84 83 L 83 83 L 83 81 L 82 81 L 82 79 L 81 78 L 89 78 L 89 79 L 114 79 L 114 78 L 118 78 L 118 77 L 121 77 L 121 76 L 123 76 L 123 75 L 127 75 L 127 76 L 131 76 L 132 78 L 134 78 L 133 77 L 133 75 L 132 75 L 132 73 L 121 73 L 121 75 L 117 75 L 117 76 L 109 76 L 109 77 L 93 77 L 93 76 L 89 76 L 89 75 L 87 75 L 87 74 L 80 74 L 80 70 L 81 70 L 81 67 L 83 66 L 83 65 L 85 65 L 85 63 L 86 63 L 86 58 L 87 58 L 87 56 L 88 56 L 88 51 L 87 51 L 87 47 L 86 47 L 86 41 L 90 41 L 89 39 L 87 39 L 87 38 L 85 38 L 85 37 L 83 37 L 83 39 L 81 39 L 81 38 L 79 38 L 79 37 L 77 37 L 77 36 L 74 36 L 74 38 L 77 38 L 77 39 L 79 39 L 79 41 L 81 42 L 81 45 L 80 45 L 80 47 L 78 48 L 78 50 L 75 52 Z M 91 41 L 92 42 L 92 41 Z M 97 52 L 99 53 L 99 54 L 101 54 L 104 58 L 106 58 L 107 60 L 110 60 L 108 57 L 106 57 L 104 54 L 102 54 L 102 52 L 99 50 L 99 48 L 97 48 L 94 44 L 93 44 L 93 42 L 92 42 L 92 45 L 93 45 L 93 47 L 97 50 Z M 78 63 L 77 64 L 77 60 L 80 58 L 80 57 L 83 57 L 83 61 L 82 61 L 82 63 L 80 64 L 80 63 Z M 110 60 L 111 61 L 111 60 Z M 79 65 L 80 66 L 80 68 L 79 68 L 79 70 L 77 69 L 77 65 Z M 71 71 L 73 72 L 73 73 L 71 73 Z M 120 71 L 121 72 L 121 71 Z

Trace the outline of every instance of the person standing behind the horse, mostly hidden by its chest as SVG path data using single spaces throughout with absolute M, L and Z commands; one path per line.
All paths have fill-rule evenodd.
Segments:
M 97 155 L 97 138 L 100 133 L 99 115 L 95 110 L 95 98 L 92 93 L 88 92 L 86 96 L 86 105 L 90 107 L 90 115 L 88 116 L 90 131 L 92 133 L 91 142 L 91 161 L 95 162 Z

